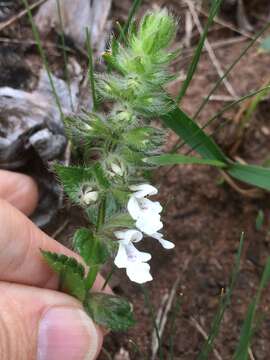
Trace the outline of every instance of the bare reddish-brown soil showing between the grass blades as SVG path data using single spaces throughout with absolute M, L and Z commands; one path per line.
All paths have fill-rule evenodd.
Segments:
M 115 1 L 113 18 L 124 20 L 130 4 L 130 0 Z M 143 5 L 140 14 L 146 8 L 166 4 L 180 18 L 180 30 L 177 39 L 180 43 L 184 35 L 186 12 L 186 8 L 180 1 L 160 0 L 155 1 L 155 3 L 148 1 Z M 254 1 L 250 2 L 250 7 L 251 9 L 254 8 Z M 260 12 L 260 8 L 257 8 L 256 11 L 256 19 L 252 18 L 255 30 L 262 26 L 266 15 Z M 226 16 L 228 19 L 228 14 Z M 201 20 L 204 22 L 205 18 L 201 17 Z M 237 27 L 237 24 L 234 23 L 233 26 Z M 212 43 L 224 39 L 236 39 L 240 36 L 224 26 L 215 25 L 214 29 L 210 35 Z M 18 33 L 14 28 L 12 36 L 16 37 L 16 34 Z M 196 30 L 194 30 L 194 34 L 193 46 L 198 41 Z M 239 55 L 247 41 L 248 39 L 244 39 L 242 42 L 223 45 L 216 49 L 216 56 L 224 69 Z M 36 59 L 33 55 L 33 48 L 28 46 L 25 50 L 28 56 L 31 53 L 31 56 Z M 57 60 L 56 54 L 54 55 Z M 174 64 L 174 70 L 179 73 L 180 70 L 185 71 L 190 59 L 191 57 L 185 50 L 180 60 Z M 256 46 L 252 48 L 248 56 L 236 66 L 229 77 L 237 95 L 244 95 L 264 84 L 269 77 L 269 62 L 270 55 L 262 54 Z M 212 62 L 208 55 L 204 54 L 183 101 L 183 109 L 189 114 L 193 114 L 217 78 Z M 175 81 L 169 88 L 172 94 L 176 94 L 181 81 L 181 79 Z M 218 94 L 228 95 L 224 87 L 218 90 Z M 199 121 L 204 123 L 225 104 L 221 101 L 211 101 L 201 114 Z M 262 163 L 269 157 L 269 109 L 269 101 L 264 101 L 259 106 L 250 126 L 244 132 L 240 146 L 234 156 L 250 163 Z M 209 132 L 212 132 L 218 123 L 223 122 L 225 124 L 222 129 L 215 133 L 215 139 L 226 153 L 231 151 L 236 141 L 235 114 L 237 110 L 234 109 L 226 113 L 214 123 L 215 126 L 208 129 Z M 169 149 L 176 141 L 175 135 L 170 134 L 168 140 Z M 179 278 L 175 300 L 181 299 L 181 310 L 179 314 L 174 314 L 176 320 L 173 359 L 189 360 L 195 359 L 198 355 L 204 341 L 200 327 L 206 333 L 209 332 L 211 321 L 219 303 L 220 293 L 222 289 L 226 289 L 229 283 L 240 234 L 244 231 L 245 246 L 241 273 L 233 294 L 232 304 L 225 313 L 221 331 L 215 343 L 215 349 L 220 354 L 221 359 L 232 359 L 248 304 L 256 293 L 266 257 L 270 253 L 269 195 L 263 194 L 260 199 L 250 199 L 236 192 L 230 185 L 221 180 L 221 174 L 217 170 L 200 166 L 181 166 L 169 173 L 167 169 L 160 169 L 155 174 L 155 182 L 160 187 L 160 201 L 165 206 L 164 229 L 166 237 L 175 242 L 176 247 L 175 250 L 165 252 L 153 241 L 147 241 L 146 246 L 153 254 L 151 266 L 154 276 L 154 281 L 147 285 L 147 288 L 153 307 L 158 310 L 164 295 L 171 291 L 176 279 Z M 243 184 L 238 185 L 245 188 Z M 264 211 L 265 222 L 262 229 L 258 231 L 255 228 L 255 220 L 260 209 Z M 68 209 L 68 211 L 63 210 L 57 219 L 57 223 L 47 230 L 53 234 L 67 217 L 69 224 L 58 236 L 58 240 L 65 243 L 72 236 L 74 229 L 81 223 L 81 217 L 77 214 L 77 210 L 73 211 L 73 208 Z M 120 357 L 121 348 L 129 353 L 132 360 L 150 359 L 153 323 L 149 309 L 145 305 L 141 288 L 131 284 L 127 277 L 123 273 L 119 274 L 119 272 L 112 279 L 112 287 L 117 294 L 124 295 L 132 301 L 137 324 L 128 334 L 108 335 L 104 344 L 105 351 L 100 359 L 128 359 L 127 357 Z M 252 344 L 252 353 L 258 360 L 270 358 L 269 296 L 270 293 L 267 292 L 262 301 L 261 310 L 265 314 L 265 319 L 254 336 Z M 172 312 L 169 313 L 162 338 L 164 359 L 170 358 L 171 327 Z M 136 351 L 137 347 L 140 352 Z M 210 359 L 216 358 L 217 355 L 210 356 Z

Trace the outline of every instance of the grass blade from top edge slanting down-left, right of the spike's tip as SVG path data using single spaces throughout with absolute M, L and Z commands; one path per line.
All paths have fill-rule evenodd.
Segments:
M 186 91 L 189 87 L 189 84 L 193 78 L 193 75 L 197 69 L 197 65 L 199 63 L 199 60 L 200 60 L 200 57 L 201 57 L 201 54 L 202 54 L 202 50 L 203 50 L 203 46 L 204 46 L 204 42 L 205 42 L 205 39 L 206 39 L 206 36 L 208 34 L 208 31 L 209 31 L 209 28 L 212 26 L 213 24 L 213 21 L 214 21 L 214 18 L 220 8 L 220 5 L 221 5 L 221 2 L 222 0 L 215 0 L 211 6 L 211 9 L 210 9 L 210 13 L 209 13 L 209 16 L 208 16 L 208 19 L 207 19 L 207 23 L 206 23 L 206 26 L 204 28 L 204 31 L 203 31 L 203 34 L 202 36 L 200 37 L 200 41 L 198 43 L 198 46 L 196 47 L 196 50 L 194 52 L 194 56 L 193 56 L 193 59 L 189 65 L 189 68 L 188 68 L 188 72 L 187 72 L 187 76 L 186 76 L 186 79 L 176 97 L 176 102 L 179 103 L 182 98 L 185 96 L 186 94 Z

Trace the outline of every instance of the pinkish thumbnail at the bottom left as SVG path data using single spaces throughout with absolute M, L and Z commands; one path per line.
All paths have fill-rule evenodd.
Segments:
M 51 308 L 40 321 L 37 359 L 94 360 L 101 339 L 100 330 L 83 310 Z

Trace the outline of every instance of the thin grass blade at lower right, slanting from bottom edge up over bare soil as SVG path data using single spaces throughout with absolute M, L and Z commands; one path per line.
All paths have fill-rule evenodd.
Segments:
M 241 260 L 241 254 L 243 251 L 243 244 L 244 244 L 244 233 L 242 233 L 241 237 L 240 237 L 240 243 L 239 243 L 239 247 L 238 247 L 238 251 L 237 251 L 237 255 L 236 255 L 236 261 L 235 261 L 234 269 L 232 272 L 230 285 L 227 289 L 227 292 L 225 294 L 223 293 L 221 295 L 218 310 L 217 310 L 214 320 L 212 322 L 209 336 L 208 336 L 206 342 L 204 343 L 203 348 L 202 348 L 197 360 L 207 360 L 209 358 L 209 354 L 213 350 L 214 341 L 219 333 L 219 329 L 220 329 L 221 322 L 222 322 L 222 319 L 225 314 L 225 310 L 230 305 L 232 292 L 234 290 L 234 287 L 235 287 L 235 284 L 237 281 L 237 277 L 238 277 L 238 274 L 240 271 L 240 260 Z

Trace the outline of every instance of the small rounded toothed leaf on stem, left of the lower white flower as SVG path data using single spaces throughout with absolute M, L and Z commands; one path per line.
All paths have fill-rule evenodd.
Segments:
M 75 232 L 73 245 L 75 251 L 89 266 L 104 264 L 108 258 L 106 245 L 86 228 L 81 228 Z

